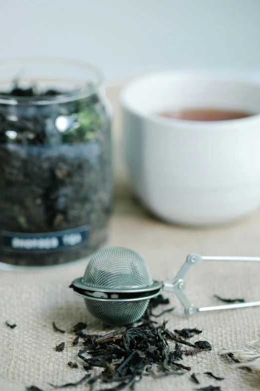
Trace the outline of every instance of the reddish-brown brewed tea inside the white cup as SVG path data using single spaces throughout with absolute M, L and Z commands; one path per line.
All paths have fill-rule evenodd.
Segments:
M 244 111 L 222 110 L 222 109 L 203 109 L 188 108 L 178 111 L 162 111 L 159 113 L 162 117 L 185 119 L 189 121 L 226 121 L 229 119 L 246 118 L 253 115 Z

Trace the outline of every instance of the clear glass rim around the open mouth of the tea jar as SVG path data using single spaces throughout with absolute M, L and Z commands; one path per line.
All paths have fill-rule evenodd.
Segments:
M 17 57 L 13 59 L 1 60 L 0 71 L 3 68 L 15 65 L 33 65 L 38 64 L 56 64 L 75 66 L 81 69 L 86 69 L 94 75 L 94 82 L 87 82 L 77 89 L 72 89 L 70 92 L 60 93 L 59 95 L 35 95 L 35 96 L 14 96 L 0 94 L 0 104 L 24 104 L 30 103 L 33 105 L 48 105 L 57 103 L 66 103 L 77 99 L 86 98 L 96 93 L 104 81 L 104 76 L 101 70 L 90 62 L 83 60 L 75 60 L 67 57 Z

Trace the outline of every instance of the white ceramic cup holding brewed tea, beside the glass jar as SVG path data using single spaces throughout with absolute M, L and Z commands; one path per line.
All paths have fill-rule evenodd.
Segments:
M 154 73 L 123 88 L 121 104 L 132 186 L 159 218 L 214 225 L 260 206 L 260 83 L 195 72 Z M 183 108 L 256 115 L 206 122 L 157 115 Z

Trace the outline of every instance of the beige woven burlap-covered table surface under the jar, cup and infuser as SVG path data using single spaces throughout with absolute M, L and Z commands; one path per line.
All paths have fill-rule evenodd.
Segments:
M 155 280 L 174 277 L 190 252 L 202 255 L 260 255 L 260 211 L 236 224 L 215 228 L 184 228 L 158 221 L 133 200 L 126 181 L 117 182 L 115 209 L 110 223 L 107 245 L 123 246 L 135 250 L 147 262 Z M 73 334 L 54 332 L 52 322 L 69 331 L 77 322 L 86 322 L 90 333 L 108 331 L 87 313 L 82 298 L 76 296 L 68 285 L 82 276 L 87 261 L 41 270 L 0 272 L 0 390 L 25 390 L 35 385 L 42 390 L 53 390 L 49 383 L 61 385 L 75 382 L 85 371 L 71 369 L 68 361 L 80 360 L 73 347 Z M 246 301 L 260 300 L 260 264 L 205 262 L 195 265 L 186 278 L 186 294 L 195 305 L 219 304 L 214 294 L 223 297 L 244 297 Z M 222 391 L 260 389 L 260 377 L 237 369 L 219 355 L 222 348 L 240 349 L 260 338 L 260 308 L 217 311 L 187 317 L 174 295 L 170 298 L 172 313 L 168 320 L 170 330 L 197 327 L 199 336 L 213 346 L 211 352 L 201 353 L 183 360 L 191 372 L 181 377 L 153 380 L 144 377 L 136 391 L 194 390 L 209 385 Z M 158 308 L 159 312 L 161 308 Z M 15 322 L 10 329 L 4 322 Z M 196 340 L 197 338 L 193 338 Z M 65 350 L 55 351 L 55 346 L 65 342 Z M 212 371 L 225 380 L 217 382 L 203 375 Z M 191 373 L 201 374 L 197 386 L 190 380 Z M 103 389 L 97 385 L 94 391 Z M 68 390 L 73 390 L 68 388 Z M 75 390 L 75 388 L 74 388 Z M 76 390 L 88 390 L 85 385 Z

